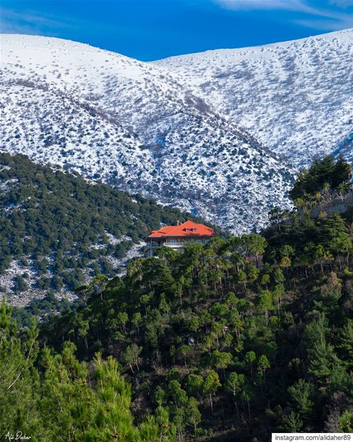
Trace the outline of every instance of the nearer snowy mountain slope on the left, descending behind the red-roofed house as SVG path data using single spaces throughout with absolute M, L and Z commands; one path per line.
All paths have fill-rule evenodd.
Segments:
M 292 171 L 168 66 L 3 35 L 1 70 L 4 151 L 100 177 L 236 232 L 288 204 Z

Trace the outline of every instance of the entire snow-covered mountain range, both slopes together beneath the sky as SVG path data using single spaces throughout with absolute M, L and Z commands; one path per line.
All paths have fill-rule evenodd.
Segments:
M 144 63 L 3 35 L 0 148 L 248 231 L 293 164 L 352 151 L 352 36 Z

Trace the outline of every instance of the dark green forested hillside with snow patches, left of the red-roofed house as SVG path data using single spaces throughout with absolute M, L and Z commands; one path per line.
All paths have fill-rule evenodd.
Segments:
M 78 175 L 0 153 L 0 292 L 19 305 L 48 293 L 72 296 L 98 274 L 141 255 L 161 223 L 189 219 Z

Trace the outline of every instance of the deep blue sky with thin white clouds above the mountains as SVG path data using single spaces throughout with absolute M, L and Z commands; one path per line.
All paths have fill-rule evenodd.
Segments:
M 353 0 L 1 0 L 1 32 L 82 41 L 141 60 L 353 27 Z

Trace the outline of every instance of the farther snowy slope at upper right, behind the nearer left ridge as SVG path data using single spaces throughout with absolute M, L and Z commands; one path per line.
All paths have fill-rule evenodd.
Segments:
M 353 159 L 353 29 L 154 64 L 295 166 L 341 147 Z

